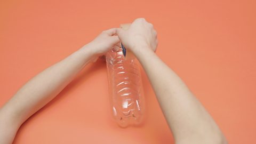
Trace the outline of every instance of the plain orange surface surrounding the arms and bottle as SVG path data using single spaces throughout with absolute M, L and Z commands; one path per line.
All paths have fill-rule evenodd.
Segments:
M 229 143 L 256 143 L 256 1 L 0 1 L 0 106 L 102 30 L 145 17 L 157 54 L 190 87 Z M 173 143 L 145 72 L 146 121 L 111 120 L 106 66 L 90 64 L 20 128 L 14 143 Z

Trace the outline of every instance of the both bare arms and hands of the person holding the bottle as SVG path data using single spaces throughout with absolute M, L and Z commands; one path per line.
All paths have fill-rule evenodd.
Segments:
M 218 125 L 186 84 L 155 54 L 157 34 L 153 25 L 143 18 L 134 20 L 128 30 L 103 31 L 89 44 L 30 79 L 0 109 L 1 143 L 12 143 L 26 119 L 60 93 L 89 61 L 119 41 L 134 53 L 146 71 L 175 143 L 227 143 Z

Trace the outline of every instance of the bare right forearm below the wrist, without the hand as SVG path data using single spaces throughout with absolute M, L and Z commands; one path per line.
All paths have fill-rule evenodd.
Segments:
M 135 55 L 149 77 L 177 143 L 222 141 L 217 124 L 173 70 L 150 49 Z

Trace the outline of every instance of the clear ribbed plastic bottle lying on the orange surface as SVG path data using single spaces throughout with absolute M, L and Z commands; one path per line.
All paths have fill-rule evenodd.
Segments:
M 129 24 L 121 25 L 124 30 Z M 121 127 L 139 125 L 145 105 L 138 60 L 120 44 L 106 54 L 108 85 L 113 116 Z

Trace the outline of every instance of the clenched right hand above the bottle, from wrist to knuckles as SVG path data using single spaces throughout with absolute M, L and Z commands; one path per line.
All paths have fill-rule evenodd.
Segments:
M 122 44 L 134 54 L 146 49 L 156 51 L 158 43 L 156 30 L 144 18 L 135 19 L 127 30 L 117 28 L 116 34 Z

